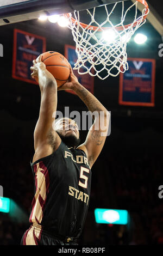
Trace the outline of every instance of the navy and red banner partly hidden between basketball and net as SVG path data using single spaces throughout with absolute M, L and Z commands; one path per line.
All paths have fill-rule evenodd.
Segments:
M 78 58 L 76 53 L 76 47 L 72 45 L 65 45 L 65 57 L 73 68 Z M 78 81 L 80 84 L 82 84 L 82 86 L 84 86 L 92 94 L 94 93 L 93 76 L 90 76 L 89 74 L 79 75 L 77 70 L 73 70 L 73 74 L 78 78 Z M 65 92 L 76 94 L 72 90 L 66 90 Z

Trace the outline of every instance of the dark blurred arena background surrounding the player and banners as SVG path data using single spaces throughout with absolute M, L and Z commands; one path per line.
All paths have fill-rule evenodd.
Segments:
M 162 22 L 162 3 L 147 1 Z M 162 17 L 161 17 L 162 16 Z M 163 57 L 158 29 L 147 20 L 137 33 L 147 36 L 144 44 L 128 42 L 130 58 L 156 60 L 154 106 L 120 105 L 120 77 L 102 81 L 95 77 L 93 93 L 111 111 L 111 134 L 92 167 L 89 212 L 80 245 L 160 245 L 163 244 L 162 184 L 163 144 Z M 46 51 L 65 54 L 65 44 L 75 46 L 70 29 L 58 23 L 39 19 L 0 26 L 1 57 L 1 149 L 0 185 L 3 196 L 12 199 L 14 212 L 0 212 L 0 245 L 19 245 L 29 228 L 30 205 L 34 196 L 30 159 L 34 154 L 33 132 L 39 115 L 40 89 L 37 84 L 12 77 L 14 29 L 46 38 Z M 161 27 L 160 27 L 161 31 Z M 162 30 L 163 36 L 163 30 Z M 86 111 L 83 102 L 67 92 L 58 93 L 58 110 L 80 113 Z M 82 141 L 87 131 L 81 131 Z M 94 210 L 124 209 L 128 224 L 99 224 Z

